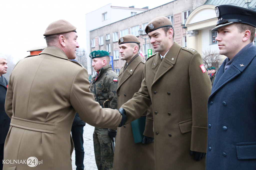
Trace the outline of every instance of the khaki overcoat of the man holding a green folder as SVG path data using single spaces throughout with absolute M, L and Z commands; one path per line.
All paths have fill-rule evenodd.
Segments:
M 127 64 L 125 63 L 119 72 L 119 83 L 116 91 L 118 95 L 118 108 L 131 99 L 134 93 L 138 92 L 144 78 L 145 62 L 138 54 L 135 56 L 136 58 L 127 68 L 124 70 Z M 145 114 L 142 116 L 146 116 Z M 154 137 L 153 117 L 146 118 L 146 127 L 143 134 L 148 137 Z M 117 128 L 113 170 L 151 170 L 155 168 L 154 163 L 154 143 L 135 143 L 131 123 Z

